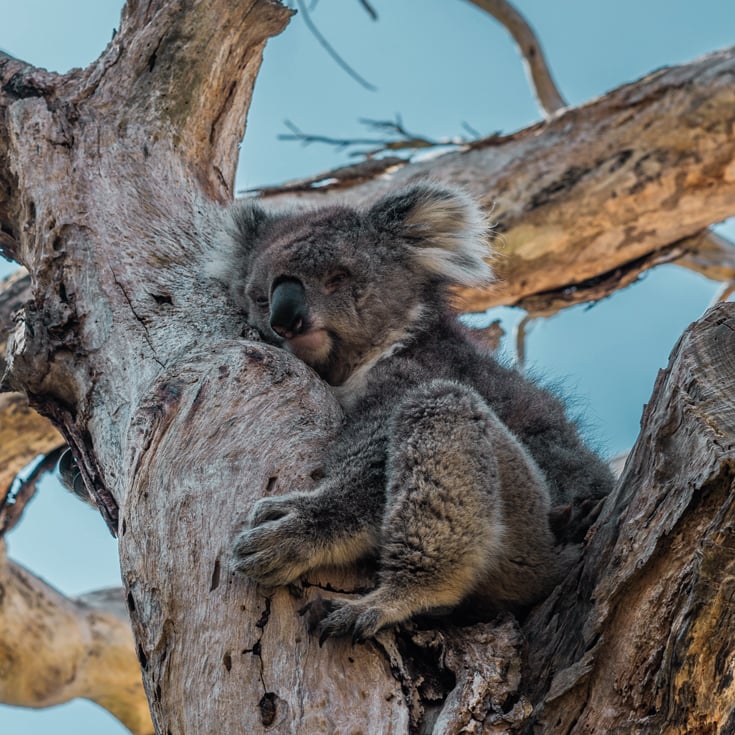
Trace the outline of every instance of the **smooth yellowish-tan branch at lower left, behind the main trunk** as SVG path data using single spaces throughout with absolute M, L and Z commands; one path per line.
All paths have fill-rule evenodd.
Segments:
M 67 598 L 0 540 L 0 701 L 50 707 L 84 697 L 135 735 L 153 732 L 122 590 Z

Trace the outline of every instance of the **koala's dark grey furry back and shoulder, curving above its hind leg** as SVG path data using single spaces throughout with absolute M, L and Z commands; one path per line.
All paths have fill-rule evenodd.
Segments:
M 608 494 L 607 465 L 581 440 L 563 403 L 516 370 L 477 347 L 452 315 L 440 329 L 415 335 L 370 371 L 365 393 L 348 410 L 358 423 L 377 422 L 411 386 L 437 378 L 474 388 L 526 447 L 542 470 L 552 505 Z M 371 436 L 382 432 L 371 430 Z

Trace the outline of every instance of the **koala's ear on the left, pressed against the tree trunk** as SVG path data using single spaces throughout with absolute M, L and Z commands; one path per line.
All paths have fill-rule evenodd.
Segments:
M 223 210 L 223 215 L 222 231 L 207 271 L 213 278 L 230 283 L 234 274 L 247 273 L 258 242 L 274 216 L 252 199 L 235 202 Z

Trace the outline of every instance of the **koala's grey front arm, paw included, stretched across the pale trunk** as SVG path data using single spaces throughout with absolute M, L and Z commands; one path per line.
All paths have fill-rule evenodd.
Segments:
M 385 504 L 385 438 L 373 422 L 346 427 L 311 492 L 255 503 L 235 536 L 234 568 L 278 586 L 310 569 L 342 566 L 374 553 Z

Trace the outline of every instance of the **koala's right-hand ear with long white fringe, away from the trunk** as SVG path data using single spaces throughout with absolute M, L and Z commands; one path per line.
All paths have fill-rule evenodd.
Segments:
M 413 257 L 449 283 L 479 286 L 492 278 L 489 224 L 479 205 L 458 189 L 416 184 L 388 194 L 369 210 L 378 229 L 410 241 Z

